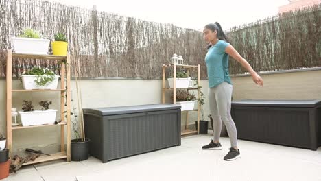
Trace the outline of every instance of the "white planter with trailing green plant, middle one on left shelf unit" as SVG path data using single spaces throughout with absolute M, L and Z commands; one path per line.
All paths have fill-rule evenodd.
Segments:
M 37 79 L 38 75 L 21 75 L 22 82 L 23 82 L 23 88 L 25 90 L 32 90 L 32 89 L 56 89 L 58 86 L 58 79 L 59 76 L 55 75 L 55 80 L 51 82 L 51 84 L 48 84 L 47 86 L 37 86 L 35 80 Z M 45 75 L 40 75 L 45 76 Z

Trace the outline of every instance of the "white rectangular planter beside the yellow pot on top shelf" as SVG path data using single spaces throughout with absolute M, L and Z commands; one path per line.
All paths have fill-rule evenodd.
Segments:
M 40 38 L 11 37 L 11 45 L 14 53 L 27 53 L 46 55 L 50 40 Z

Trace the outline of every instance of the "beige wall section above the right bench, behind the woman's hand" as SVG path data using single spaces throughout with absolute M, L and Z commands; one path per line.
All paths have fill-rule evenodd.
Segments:
M 321 99 L 321 70 L 263 74 L 264 86 L 252 77 L 232 77 L 233 99 Z

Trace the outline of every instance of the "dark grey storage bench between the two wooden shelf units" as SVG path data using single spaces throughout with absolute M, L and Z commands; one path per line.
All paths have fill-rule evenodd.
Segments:
M 108 162 L 180 145 L 180 108 L 173 104 L 150 104 L 84 109 L 90 154 Z

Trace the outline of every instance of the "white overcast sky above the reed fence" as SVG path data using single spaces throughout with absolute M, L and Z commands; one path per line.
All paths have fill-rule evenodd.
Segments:
M 228 30 L 278 14 L 278 7 L 289 0 L 49 0 L 82 8 L 97 6 L 98 11 L 134 17 L 178 27 L 202 30 L 219 22 Z

